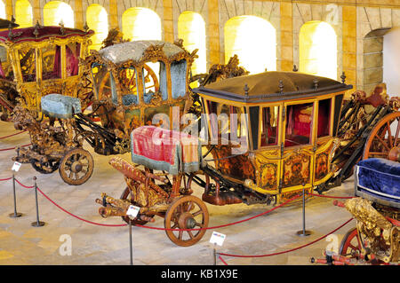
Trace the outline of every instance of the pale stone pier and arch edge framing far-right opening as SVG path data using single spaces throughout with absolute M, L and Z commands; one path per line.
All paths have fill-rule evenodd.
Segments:
M 356 88 L 369 95 L 383 82 L 383 36 L 400 27 L 400 10 L 357 7 L 357 80 Z

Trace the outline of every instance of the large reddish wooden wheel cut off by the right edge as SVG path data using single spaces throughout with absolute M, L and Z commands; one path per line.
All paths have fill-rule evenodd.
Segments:
M 373 127 L 370 137 L 364 146 L 363 160 L 380 157 L 388 159 L 389 155 L 396 154 L 400 145 L 400 112 L 383 117 Z

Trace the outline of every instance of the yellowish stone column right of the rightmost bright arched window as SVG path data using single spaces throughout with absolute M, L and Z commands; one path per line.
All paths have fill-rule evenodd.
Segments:
M 346 75 L 346 83 L 353 84 L 356 89 L 356 6 L 343 6 L 343 72 Z M 338 80 L 340 80 L 338 78 Z M 348 97 L 354 90 L 348 90 L 346 97 Z

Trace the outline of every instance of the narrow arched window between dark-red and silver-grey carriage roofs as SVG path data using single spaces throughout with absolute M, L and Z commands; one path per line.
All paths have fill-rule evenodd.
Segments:
M 86 10 L 86 22 L 94 30 L 90 49 L 100 50 L 101 43 L 108 35 L 108 14 L 100 4 L 92 4 Z

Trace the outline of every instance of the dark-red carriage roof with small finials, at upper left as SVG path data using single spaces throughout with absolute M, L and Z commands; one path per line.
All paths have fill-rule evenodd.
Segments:
M 0 31 L 0 43 L 42 42 L 51 37 L 68 38 L 71 36 L 91 36 L 92 30 L 84 31 L 77 28 L 62 28 L 55 26 L 35 26 L 29 28 L 13 28 Z

